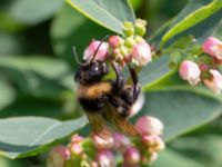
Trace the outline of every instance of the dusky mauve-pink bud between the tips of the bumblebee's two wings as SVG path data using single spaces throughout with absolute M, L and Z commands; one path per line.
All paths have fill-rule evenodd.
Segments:
M 127 147 L 131 145 L 130 139 L 123 134 L 114 132 L 113 138 L 114 138 L 114 148 L 119 149 L 121 153 L 124 153 Z

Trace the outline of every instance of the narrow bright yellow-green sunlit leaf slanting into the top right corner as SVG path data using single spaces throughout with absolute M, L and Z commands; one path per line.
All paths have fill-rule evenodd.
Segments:
M 203 1 L 198 2 L 198 0 L 192 0 L 191 3 L 189 3 L 189 7 L 192 7 L 194 4 L 200 6 L 200 4 L 196 4 L 196 3 L 202 4 Z M 163 36 L 162 41 L 161 41 L 161 46 L 163 46 L 173 36 L 175 36 L 175 35 L 193 27 L 194 24 L 203 21 L 204 19 L 212 16 L 214 12 L 219 11 L 221 8 L 222 8 L 222 1 L 221 0 L 214 0 L 206 6 L 201 6 L 201 8 L 194 10 L 194 12 L 185 16 L 182 20 L 174 23 L 174 26 L 171 27 L 170 30 Z

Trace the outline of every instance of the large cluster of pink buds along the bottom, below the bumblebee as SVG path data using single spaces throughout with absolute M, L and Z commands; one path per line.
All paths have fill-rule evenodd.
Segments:
M 47 167 L 139 167 L 151 164 L 164 148 L 161 138 L 163 124 L 144 116 L 138 119 L 135 128 L 141 138 L 130 138 L 120 132 L 111 132 L 105 138 L 100 135 L 87 138 L 73 135 L 67 147 L 57 146 L 50 151 Z M 117 154 L 122 156 L 122 163 L 115 161 Z

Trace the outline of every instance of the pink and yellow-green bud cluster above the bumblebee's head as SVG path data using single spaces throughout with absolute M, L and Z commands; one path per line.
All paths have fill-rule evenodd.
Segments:
M 123 23 L 124 36 L 110 36 L 108 42 L 92 40 L 84 50 L 83 59 L 90 61 L 94 53 L 97 60 L 115 60 L 119 65 L 133 63 L 145 66 L 152 60 L 151 48 L 142 38 L 145 33 L 147 21 L 138 19 L 135 23 Z M 98 50 L 97 50 L 98 49 Z

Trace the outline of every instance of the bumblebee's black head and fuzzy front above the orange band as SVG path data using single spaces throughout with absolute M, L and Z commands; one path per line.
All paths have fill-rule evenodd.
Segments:
M 109 72 L 108 65 L 102 61 L 91 61 L 83 63 L 74 76 L 74 80 L 82 84 L 89 85 L 98 82 Z

